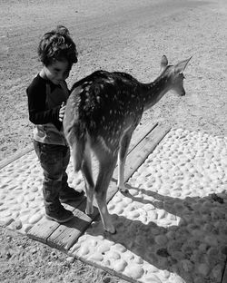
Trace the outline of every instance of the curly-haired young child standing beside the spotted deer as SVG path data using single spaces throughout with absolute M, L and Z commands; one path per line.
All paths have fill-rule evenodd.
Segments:
M 70 188 L 66 168 L 70 151 L 64 139 L 63 118 L 69 91 L 65 79 L 77 62 L 76 46 L 64 26 L 44 34 L 38 46 L 43 69 L 28 86 L 29 120 L 35 124 L 34 146 L 44 171 L 46 218 L 64 223 L 74 214 L 61 204 L 78 200 L 84 192 Z

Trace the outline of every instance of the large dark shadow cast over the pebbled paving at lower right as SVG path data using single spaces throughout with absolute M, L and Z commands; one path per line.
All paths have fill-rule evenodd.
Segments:
M 138 194 L 133 196 L 130 189 L 149 196 L 149 200 L 143 200 Z M 227 246 L 226 192 L 204 198 L 178 199 L 130 187 L 124 197 L 144 205 L 152 204 L 151 215 L 155 216 L 154 211 L 158 209 L 161 219 L 149 218 L 144 224 L 114 214 L 116 234 L 105 233 L 101 222 L 97 224 L 98 229 L 94 225 L 94 229 L 88 230 L 89 234 L 101 234 L 105 239 L 120 243 L 154 267 L 176 273 L 187 283 L 206 282 L 206 279 L 207 282 L 221 282 Z M 163 220 L 178 217 L 180 221 L 163 227 L 162 214 L 165 214 Z M 165 272 L 165 276 L 170 274 Z

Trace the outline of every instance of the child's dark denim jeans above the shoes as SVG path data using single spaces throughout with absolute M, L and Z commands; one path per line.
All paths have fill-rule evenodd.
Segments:
M 69 147 L 34 141 L 35 152 L 44 170 L 43 194 L 46 213 L 59 210 L 60 190 L 68 188 L 66 168 L 70 159 Z

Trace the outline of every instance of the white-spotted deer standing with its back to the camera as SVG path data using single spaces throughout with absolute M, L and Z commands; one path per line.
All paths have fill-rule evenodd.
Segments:
M 191 59 L 191 58 L 190 58 Z M 189 60 L 168 65 L 165 55 L 161 73 L 153 83 L 140 83 L 128 73 L 94 72 L 74 83 L 64 113 L 64 134 L 72 150 L 74 170 L 82 171 L 87 204 L 85 212 L 93 213 L 97 200 L 104 229 L 115 232 L 106 205 L 106 191 L 118 160 L 119 190 L 125 191 L 123 171 L 132 134 L 142 118 L 165 93 L 185 95 L 183 70 Z M 91 151 L 99 162 L 94 184 Z

